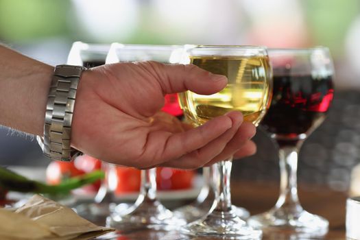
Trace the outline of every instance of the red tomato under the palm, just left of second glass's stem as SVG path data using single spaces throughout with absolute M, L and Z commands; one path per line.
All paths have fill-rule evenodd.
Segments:
M 130 193 L 140 190 L 141 171 L 132 167 L 116 167 L 117 188 L 115 194 Z

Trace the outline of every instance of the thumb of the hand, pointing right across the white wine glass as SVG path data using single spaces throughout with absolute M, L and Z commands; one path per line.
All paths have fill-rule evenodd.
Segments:
M 224 75 L 217 75 L 200 69 L 192 64 L 161 64 L 141 62 L 143 67 L 155 71 L 163 93 L 181 93 L 187 90 L 210 95 L 219 92 L 227 84 Z

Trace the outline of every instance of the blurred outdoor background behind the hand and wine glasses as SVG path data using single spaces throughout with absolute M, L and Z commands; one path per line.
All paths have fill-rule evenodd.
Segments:
M 0 42 L 48 64 L 64 64 L 74 41 L 87 43 L 324 45 L 335 61 L 335 100 L 303 145 L 299 183 L 347 191 L 360 163 L 360 1 L 358 0 L 0 0 Z M 278 180 L 265 132 L 258 153 L 237 161 L 244 180 Z M 36 141 L 0 128 L 0 165 L 46 166 Z M 312 186 L 313 184 L 307 184 Z

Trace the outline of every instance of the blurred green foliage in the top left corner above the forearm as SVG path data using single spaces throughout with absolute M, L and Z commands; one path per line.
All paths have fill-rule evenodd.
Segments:
M 0 39 L 21 42 L 67 36 L 67 0 L 0 0 Z

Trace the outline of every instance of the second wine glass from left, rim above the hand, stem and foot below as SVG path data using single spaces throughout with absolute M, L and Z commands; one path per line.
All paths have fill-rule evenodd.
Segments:
M 182 47 L 176 45 L 122 45 L 113 43 L 106 63 L 154 60 L 169 63 L 171 53 Z M 119 230 L 141 228 L 171 229 L 185 224 L 175 217 L 156 198 L 156 169 L 141 170 L 141 189 L 134 205 L 113 212 L 108 226 Z

